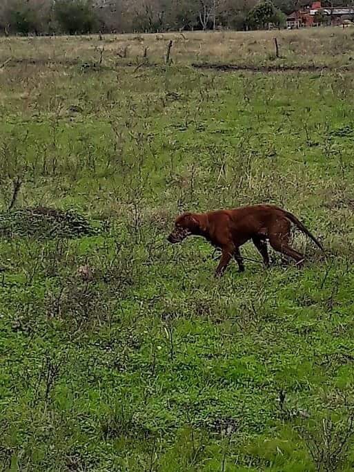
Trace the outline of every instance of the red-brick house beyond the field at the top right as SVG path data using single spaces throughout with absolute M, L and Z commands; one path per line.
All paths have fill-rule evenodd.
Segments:
M 301 28 L 304 26 L 316 26 L 316 16 L 322 13 L 328 19 L 327 24 L 342 24 L 344 20 L 354 19 L 354 8 L 343 6 L 333 8 L 322 8 L 321 1 L 314 1 L 311 6 L 307 6 L 302 10 L 291 13 L 286 17 L 286 27 Z

